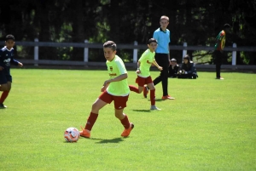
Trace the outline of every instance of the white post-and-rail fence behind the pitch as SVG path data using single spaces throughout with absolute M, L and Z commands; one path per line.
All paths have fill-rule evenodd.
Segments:
M 4 43 L 4 42 L 0 42 Z M 22 60 L 23 63 L 30 63 L 38 66 L 38 64 L 46 64 L 46 65 L 73 65 L 73 66 L 99 66 L 99 62 L 89 62 L 89 51 L 90 48 L 102 48 L 102 43 L 89 43 L 88 40 L 84 40 L 84 43 L 46 43 L 39 42 L 38 38 L 34 39 L 34 42 L 16 42 L 16 45 L 19 46 L 32 46 L 34 47 L 34 60 Z M 66 61 L 66 60 L 40 60 L 39 57 L 39 47 L 75 47 L 75 48 L 84 48 L 84 61 Z M 139 45 L 136 41 L 134 44 L 118 44 L 119 49 L 133 49 L 133 62 L 131 64 L 125 64 L 127 66 L 135 66 L 138 59 L 138 49 L 146 49 L 148 48 L 146 44 Z M 181 59 L 185 54 L 187 54 L 187 50 L 214 50 L 214 47 L 209 46 L 188 46 L 187 43 L 183 43 L 182 45 L 170 45 L 170 50 L 181 50 Z M 233 43 L 233 47 L 225 47 L 224 51 L 232 52 L 232 66 L 236 66 L 236 52 L 237 51 L 248 51 L 248 52 L 256 52 L 256 47 L 239 47 L 237 48 L 236 43 Z M 103 64 L 105 65 L 105 64 Z M 199 65 L 197 65 L 199 66 Z M 201 65 L 203 66 L 203 65 Z M 205 65 L 204 65 L 205 66 Z

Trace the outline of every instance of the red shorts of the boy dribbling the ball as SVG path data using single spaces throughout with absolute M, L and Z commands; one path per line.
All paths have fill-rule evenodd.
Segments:
M 115 109 L 124 109 L 126 107 L 126 102 L 128 101 L 129 95 L 126 96 L 114 96 L 108 94 L 105 90 L 100 96 L 99 99 L 105 101 L 106 103 L 110 104 L 113 101 L 113 105 Z

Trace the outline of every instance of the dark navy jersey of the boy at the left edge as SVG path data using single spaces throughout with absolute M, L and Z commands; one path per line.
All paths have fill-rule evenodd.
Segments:
M 11 64 L 18 66 L 19 61 L 14 60 L 14 51 L 14 48 L 9 50 L 6 46 L 0 50 L 0 66 L 3 66 L 3 72 L 5 75 L 10 75 L 9 70 Z

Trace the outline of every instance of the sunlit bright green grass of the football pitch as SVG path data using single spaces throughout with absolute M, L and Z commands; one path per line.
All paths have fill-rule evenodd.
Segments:
M 152 77 L 158 76 L 152 71 Z M 125 113 L 129 138 L 106 105 L 91 139 L 66 143 L 68 127 L 85 124 L 107 71 L 13 69 L 12 90 L 0 110 L 0 170 L 256 170 L 256 75 L 199 72 L 169 79 L 176 100 L 156 105 L 131 92 Z M 128 81 L 136 85 L 135 71 Z

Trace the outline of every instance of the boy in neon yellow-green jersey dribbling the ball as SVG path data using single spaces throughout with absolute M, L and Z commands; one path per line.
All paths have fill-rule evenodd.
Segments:
M 120 120 L 125 128 L 121 136 L 127 137 L 131 133 L 131 129 L 134 128 L 133 123 L 130 123 L 127 115 L 123 113 L 130 94 L 127 83 L 127 71 L 123 60 L 116 55 L 116 44 L 113 43 L 113 41 L 104 43 L 103 51 L 107 60 L 106 64 L 108 66 L 109 79 L 103 83 L 101 89 L 102 94 L 92 105 L 85 128 L 81 127 L 83 130 L 80 131 L 80 136 L 90 138 L 90 130 L 96 122 L 99 111 L 102 107 L 113 101 L 115 117 Z

